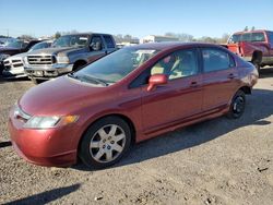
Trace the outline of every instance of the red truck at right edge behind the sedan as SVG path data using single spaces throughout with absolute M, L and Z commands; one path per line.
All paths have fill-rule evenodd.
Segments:
M 273 32 L 271 31 L 237 32 L 229 37 L 226 47 L 246 61 L 252 62 L 258 72 L 262 67 L 273 65 Z

